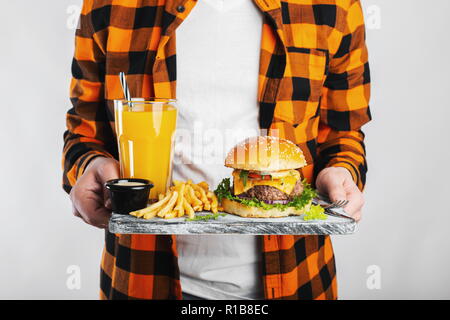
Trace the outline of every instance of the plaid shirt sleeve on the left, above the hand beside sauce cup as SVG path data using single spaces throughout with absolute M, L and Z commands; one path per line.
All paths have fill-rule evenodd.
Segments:
M 104 99 L 105 51 L 92 25 L 93 1 L 84 1 L 75 37 L 70 97 L 64 133 L 63 187 L 69 192 L 90 160 L 113 157 L 113 132 Z M 95 11 L 94 11 L 95 13 Z

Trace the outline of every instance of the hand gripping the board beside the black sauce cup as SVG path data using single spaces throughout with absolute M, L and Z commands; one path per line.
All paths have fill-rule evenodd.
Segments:
M 111 216 L 111 200 L 105 182 L 119 178 L 119 162 L 112 158 L 94 158 L 70 191 L 73 214 L 84 222 L 105 229 Z

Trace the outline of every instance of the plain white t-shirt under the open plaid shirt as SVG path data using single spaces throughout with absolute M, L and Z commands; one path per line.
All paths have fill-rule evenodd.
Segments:
M 231 169 L 226 153 L 259 134 L 262 14 L 249 0 L 198 1 L 178 27 L 178 136 L 173 178 L 207 181 Z M 262 299 L 260 244 L 249 235 L 177 237 L 181 287 L 206 299 Z

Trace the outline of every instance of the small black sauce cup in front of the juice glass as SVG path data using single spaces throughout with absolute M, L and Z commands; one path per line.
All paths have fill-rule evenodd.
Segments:
M 120 185 L 120 183 L 137 182 L 139 185 Z M 111 207 L 114 213 L 129 214 L 132 211 L 144 209 L 148 203 L 150 189 L 153 183 L 145 179 L 114 179 L 105 183 L 111 197 Z

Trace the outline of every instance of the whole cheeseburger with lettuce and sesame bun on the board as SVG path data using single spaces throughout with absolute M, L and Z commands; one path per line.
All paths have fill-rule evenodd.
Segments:
M 232 183 L 223 179 L 215 193 L 225 212 L 242 217 L 302 215 L 316 195 L 298 171 L 305 165 L 302 150 L 289 140 L 247 138 L 225 159 L 225 166 L 234 169 Z

